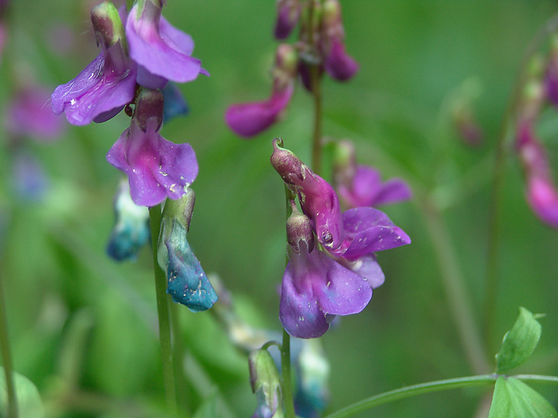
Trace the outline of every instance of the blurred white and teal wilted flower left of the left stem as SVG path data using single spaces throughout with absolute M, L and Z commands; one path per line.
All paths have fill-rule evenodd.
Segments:
M 137 251 L 151 236 L 149 210 L 132 201 L 130 186 L 126 180 L 120 183 L 113 206 L 116 222 L 110 233 L 107 254 L 116 261 L 135 259 Z

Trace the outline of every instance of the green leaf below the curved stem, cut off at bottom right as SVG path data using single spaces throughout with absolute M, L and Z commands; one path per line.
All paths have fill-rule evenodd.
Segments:
M 516 378 L 496 380 L 488 418 L 556 418 L 558 413 L 536 390 Z

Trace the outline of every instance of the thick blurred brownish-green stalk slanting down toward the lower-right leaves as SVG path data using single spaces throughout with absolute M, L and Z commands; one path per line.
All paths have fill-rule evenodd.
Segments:
M 458 261 L 453 251 L 451 240 L 444 226 L 442 213 L 428 198 L 419 198 L 432 237 L 432 245 L 442 273 L 442 282 L 446 289 L 449 308 L 457 325 L 457 332 L 465 350 L 467 361 L 474 373 L 485 373 L 490 366 L 483 348 L 481 332 L 474 320 L 473 310 L 467 297 Z

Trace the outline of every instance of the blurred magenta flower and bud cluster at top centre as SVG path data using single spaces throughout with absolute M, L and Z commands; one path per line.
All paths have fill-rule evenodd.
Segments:
M 339 0 L 279 0 L 275 36 L 285 40 L 300 22 L 299 42 L 280 43 L 272 70 L 271 97 L 259 102 L 233 104 L 225 113 L 227 125 L 241 137 L 253 137 L 278 121 L 294 91 L 296 75 L 312 91 L 311 72 L 324 70 L 345 81 L 359 69 L 345 49 L 345 31 Z

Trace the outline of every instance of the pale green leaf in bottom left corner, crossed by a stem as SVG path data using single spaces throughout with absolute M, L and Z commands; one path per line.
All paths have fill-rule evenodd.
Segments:
M 39 391 L 33 382 L 20 373 L 13 373 L 15 396 L 17 398 L 17 413 L 21 418 L 43 418 L 45 411 L 40 400 Z M 8 392 L 6 389 L 6 374 L 0 367 L 0 417 L 8 409 Z

